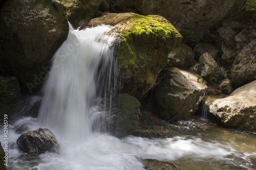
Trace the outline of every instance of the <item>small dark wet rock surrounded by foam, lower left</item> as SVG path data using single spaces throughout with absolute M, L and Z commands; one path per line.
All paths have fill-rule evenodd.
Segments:
M 37 156 L 47 151 L 57 153 L 59 148 L 53 133 L 47 128 L 39 128 L 22 134 L 17 139 L 17 145 L 20 151 L 31 156 Z

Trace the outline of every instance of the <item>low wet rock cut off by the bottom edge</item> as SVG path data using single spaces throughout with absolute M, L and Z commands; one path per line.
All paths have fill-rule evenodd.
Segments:
M 174 163 L 156 159 L 144 159 L 141 163 L 145 166 L 144 168 L 148 170 L 180 170 Z

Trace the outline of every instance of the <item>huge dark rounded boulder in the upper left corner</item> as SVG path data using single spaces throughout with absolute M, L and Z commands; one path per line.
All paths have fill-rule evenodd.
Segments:
M 62 4 L 56 0 L 7 1 L 1 7 L 0 25 L 0 72 L 16 76 L 22 89 L 35 90 L 69 33 Z

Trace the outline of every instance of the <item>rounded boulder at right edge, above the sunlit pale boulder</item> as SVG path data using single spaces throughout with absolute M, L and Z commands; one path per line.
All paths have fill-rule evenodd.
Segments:
M 237 87 L 256 79 L 256 39 L 245 46 L 234 60 L 231 79 Z

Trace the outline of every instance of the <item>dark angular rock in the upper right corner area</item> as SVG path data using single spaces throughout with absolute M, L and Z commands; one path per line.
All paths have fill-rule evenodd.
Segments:
M 221 25 L 211 38 L 221 50 L 223 64 L 231 66 L 241 50 L 256 39 L 256 12 L 239 12 L 223 19 Z

